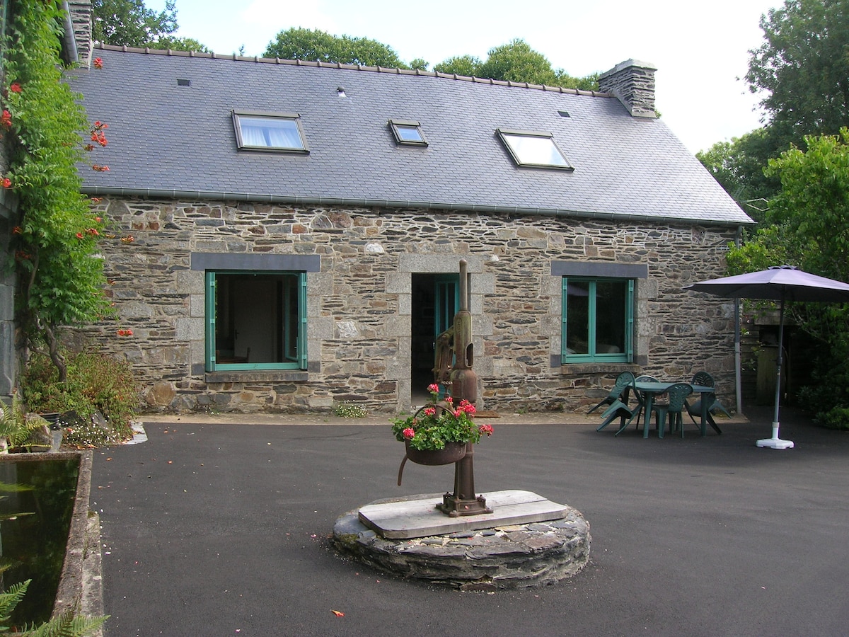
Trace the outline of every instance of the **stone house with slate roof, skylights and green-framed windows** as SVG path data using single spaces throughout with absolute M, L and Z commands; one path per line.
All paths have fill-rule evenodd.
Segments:
M 486 409 L 585 409 L 621 369 L 734 387 L 721 276 L 751 223 L 655 117 L 603 93 L 432 72 L 96 46 L 109 144 L 85 193 L 151 409 L 394 412 L 430 382 L 469 268 Z M 119 240 L 120 239 L 120 240 Z M 117 330 L 132 330 L 118 336 Z

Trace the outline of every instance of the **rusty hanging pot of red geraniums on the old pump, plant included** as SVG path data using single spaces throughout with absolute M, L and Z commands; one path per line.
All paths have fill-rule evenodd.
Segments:
M 469 401 L 453 404 L 446 396 L 437 401 L 439 386 L 428 386 L 431 402 L 407 418 L 392 420 L 392 433 L 404 443 L 407 457 L 419 465 L 447 465 L 463 459 L 466 446 L 492 436 L 492 425 L 476 425 L 475 405 Z

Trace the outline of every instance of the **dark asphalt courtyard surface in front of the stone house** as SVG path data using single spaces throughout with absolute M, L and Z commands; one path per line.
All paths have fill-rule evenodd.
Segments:
M 590 563 L 543 589 L 459 592 L 340 557 L 336 518 L 453 488 L 408 464 L 385 419 L 145 420 L 94 453 L 108 636 L 846 635 L 849 433 L 783 409 L 722 436 L 595 431 L 595 415 L 503 416 L 478 492 L 526 489 L 587 518 Z M 255 424 L 248 424 L 248 423 Z M 301 424 L 301 423 L 309 424 Z

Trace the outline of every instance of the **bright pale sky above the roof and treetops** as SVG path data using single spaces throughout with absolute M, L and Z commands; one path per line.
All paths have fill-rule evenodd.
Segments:
M 146 0 L 160 11 L 165 0 Z M 515 38 L 571 76 L 649 62 L 655 107 L 692 153 L 761 126 L 762 99 L 742 79 L 763 42 L 760 19 L 782 0 L 176 0 L 177 36 L 217 54 L 261 55 L 280 31 L 368 37 L 404 62 L 430 67 L 458 55 L 486 59 Z M 406 6 L 405 6 L 406 5 Z

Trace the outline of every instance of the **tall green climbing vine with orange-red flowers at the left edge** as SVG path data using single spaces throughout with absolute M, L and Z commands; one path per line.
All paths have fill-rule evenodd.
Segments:
M 89 125 L 79 96 L 62 82 L 59 4 L 9 3 L 0 133 L 9 157 L 2 185 L 17 197 L 20 215 L 10 264 L 18 277 L 16 320 L 27 346 L 46 349 L 64 381 L 57 328 L 112 310 L 98 256 L 104 221 L 81 194 L 77 171 L 89 152 L 108 143 L 107 125 Z

